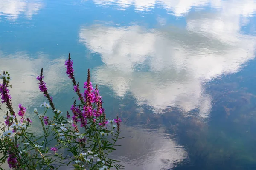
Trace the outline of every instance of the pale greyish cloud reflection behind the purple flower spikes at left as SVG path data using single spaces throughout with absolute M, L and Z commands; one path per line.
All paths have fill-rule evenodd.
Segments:
M 52 96 L 63 91 L 67 85 L 64 83 L 67 81 L 64 74 L 64 58 L 52 60 L 41 53 L 31 56 L 23 52 L 3 54 L 0 51 L 0 61 L 0 70 L 9 71 L 11 74 L 10 94 L 15 108 L 18 103 L 22 103 L 26 108 L 34 108 L 41 104 L 39 101 L 44 99 L 44 95 L 38 89 L 36 77 L 42 67 L 44 67 L 44 81 Z

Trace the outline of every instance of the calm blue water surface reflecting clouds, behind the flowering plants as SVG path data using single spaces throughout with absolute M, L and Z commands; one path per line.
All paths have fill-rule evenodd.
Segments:
M 126 170 L 256 169 L 255 0 L 0 0 L 0 70 L 13 105 L 58 109 L 91 69 L 123 119 Z M 35 131 L 40 129 L 35 125 Z

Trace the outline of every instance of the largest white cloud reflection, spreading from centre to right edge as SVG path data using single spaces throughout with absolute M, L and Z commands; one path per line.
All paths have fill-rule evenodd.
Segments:
M 188 16 L 186 29 L 81 28 L 80 42 L 99 53 L 105 63 L 95 71 L 95 81 L 110 86 L 119 97 L 131 92 L 139 103 L 151 105 L 156 112 L 178 106 L 185 112 L 198 108 L 200 116 L 207 117 L 211 97 L 203 84 L 239 71 L 255 56 L 255 37 L 240 30 L 241 19 L 253 14 L 256 3 L 225 6 L 230 3 L 215 1 L 223 11 Z

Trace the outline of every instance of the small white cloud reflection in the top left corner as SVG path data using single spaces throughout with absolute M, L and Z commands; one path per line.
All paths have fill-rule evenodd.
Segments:
M 0 16 L 7 16 L 10 20 L 16 20 L 20 14 L 25 14 L 29 19 L 43 7 L 36 0 L 0 0 Z

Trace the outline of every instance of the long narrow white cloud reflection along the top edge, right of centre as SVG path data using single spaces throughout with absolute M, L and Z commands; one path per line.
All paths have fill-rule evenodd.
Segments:
M 165 8 L 175 16 L 187 14 L 191 8 L 209 6 L 218 10 L 232 9 L 233 13 L 243 16 L 252 15 L 256 9 L 255 0 L 93 0 L 96 4 L 117 4 L 121 9 L 134 6 L 138 11 L 148 11 L 151 8 Z

